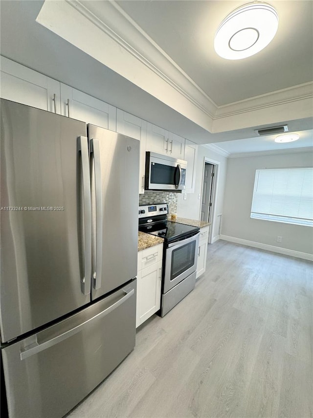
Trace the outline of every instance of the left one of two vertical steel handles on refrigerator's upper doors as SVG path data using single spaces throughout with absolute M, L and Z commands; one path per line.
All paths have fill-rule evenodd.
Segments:
M 84 247 L 85 247 L 85 271 L 81 278 L 81 290 L 84 295 L 90 293 L 91 282 L 91 192 L 89 172 L 88 139 L 85 136 L 78 137 L 78 151 L 81 153 L 84 195 Z

